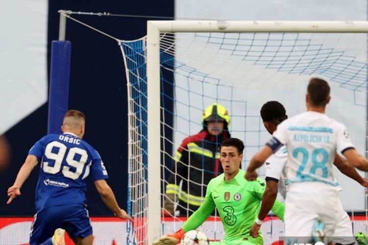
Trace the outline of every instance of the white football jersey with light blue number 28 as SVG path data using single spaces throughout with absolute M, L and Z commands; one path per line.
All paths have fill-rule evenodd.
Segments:
M 313 111 L 280 123 L 267 145 L 274 152 L 282 145 L 287 147 L 288 184 L 319 181 L 334 186 L 332 164 L 336 151 L 354 148 L 342 123 Z

